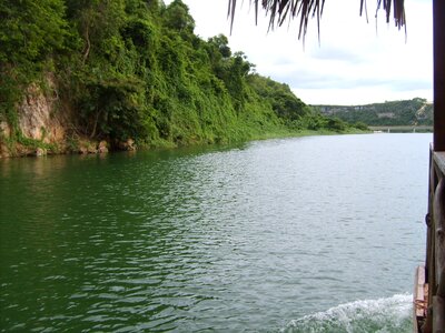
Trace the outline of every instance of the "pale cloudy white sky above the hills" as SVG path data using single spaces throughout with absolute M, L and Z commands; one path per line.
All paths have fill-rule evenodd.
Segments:
M 259 74 L 287 83 L 308 104 L 433 100 L 432 0 L 405 0 L 406 34 L 386 23 L 384 11 L 376 18 L 376 0 L 367 0 L 368 19 L 359 16 L 359 0 L 327 0 L 319 39 L 313 19 L 305 42 L 297 21 L 268 31 L 260 11 L 256 26 L 249 0 L 238 0 L 231 33 L 228 0 L 182 1 L 195 33 L 206 40 L 227 36 L 233 52 L 243 51 Z

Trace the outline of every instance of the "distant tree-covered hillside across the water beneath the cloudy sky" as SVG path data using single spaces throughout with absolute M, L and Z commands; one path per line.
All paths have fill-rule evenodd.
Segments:
M 367 125 L 433 125 L 433 104 L 425 99 L 390 101 L 366 105 L 314 105 L 325 115 Z

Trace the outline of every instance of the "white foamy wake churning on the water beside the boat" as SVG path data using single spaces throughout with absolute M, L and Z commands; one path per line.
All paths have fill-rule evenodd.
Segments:
M 281 332 L 412 332 L 412 309 L 413 296 L 409 294 L 355 301 L 293 320 Z

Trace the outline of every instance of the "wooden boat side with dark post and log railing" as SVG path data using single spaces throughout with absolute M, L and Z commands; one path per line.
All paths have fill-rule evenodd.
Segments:
M 429 154 L 425 266 L 416 270 L 414 332 L 445 332 L 445 1 L 433 1 L 434 141 Z

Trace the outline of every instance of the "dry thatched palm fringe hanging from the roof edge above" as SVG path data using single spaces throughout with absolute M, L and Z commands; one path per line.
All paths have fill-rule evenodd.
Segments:
M 237 0 L 228 0 L 228 13 L 230 18 L 230 31 L 234 27 Z M 286 19 L 299 19 L 298 39 L 305 38 L 309 18 L 316 18 L 318 36 L 320 32 L 319 20 L 323 14 L 325 0 L 249 0 L 255 4 L 255 22 L 258 21 L 259 2 L 269 17 L 269 30 L 280 27 Z M 377 11 L 383 7 L 386 12 L 386 21 L 390 20 L 393 8 L 395 26 L 400 29 L 406 24 L 404 0 L 376 0 Z M 366 0 L 360 0 L 360 16 L 366 11 Z

